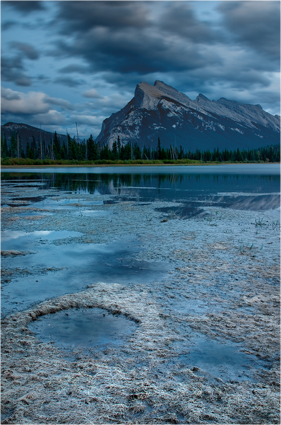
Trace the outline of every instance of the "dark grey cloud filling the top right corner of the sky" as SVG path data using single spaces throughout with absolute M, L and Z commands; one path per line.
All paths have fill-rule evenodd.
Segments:
M 218 10 L 236 42 L 280 58 L 280 1 L 223 1 Z

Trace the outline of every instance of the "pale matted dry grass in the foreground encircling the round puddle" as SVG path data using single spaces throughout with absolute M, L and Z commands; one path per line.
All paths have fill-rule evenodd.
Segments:
M 175 356 L 171 345 L 183 339 L 171 331 L 169 316 L 163 317 L 150 293 L 140 289 L 99 282 L 6 317 L 1 409 L 13 413 L 2 423 L 279 423 L 279 381 L 272 381 L 277 370 L 269 371 L 267 382 L 231 384 L 171 361 Z M 92 349 L 88 355 L 77 347 L 76 360 L 66 361 L 53 344 L 39 342 L 28 323 L 73 307 L 122 313 L 139 326 L 121 347 Z M 212 317 L 206 318 L 206 327 L 208 320 Z M 215 321 L 224 329 L 229 318 L 217 315 Z M 204 318 L 193 318 L 189 325 L 197 323 L 204 332 Z M 253 319 L 248 328 L 251 325 L 259 328 L 261 323 L 257 326 Z M 269 319 L 264 326 L 270 333 L 273 323 Z

